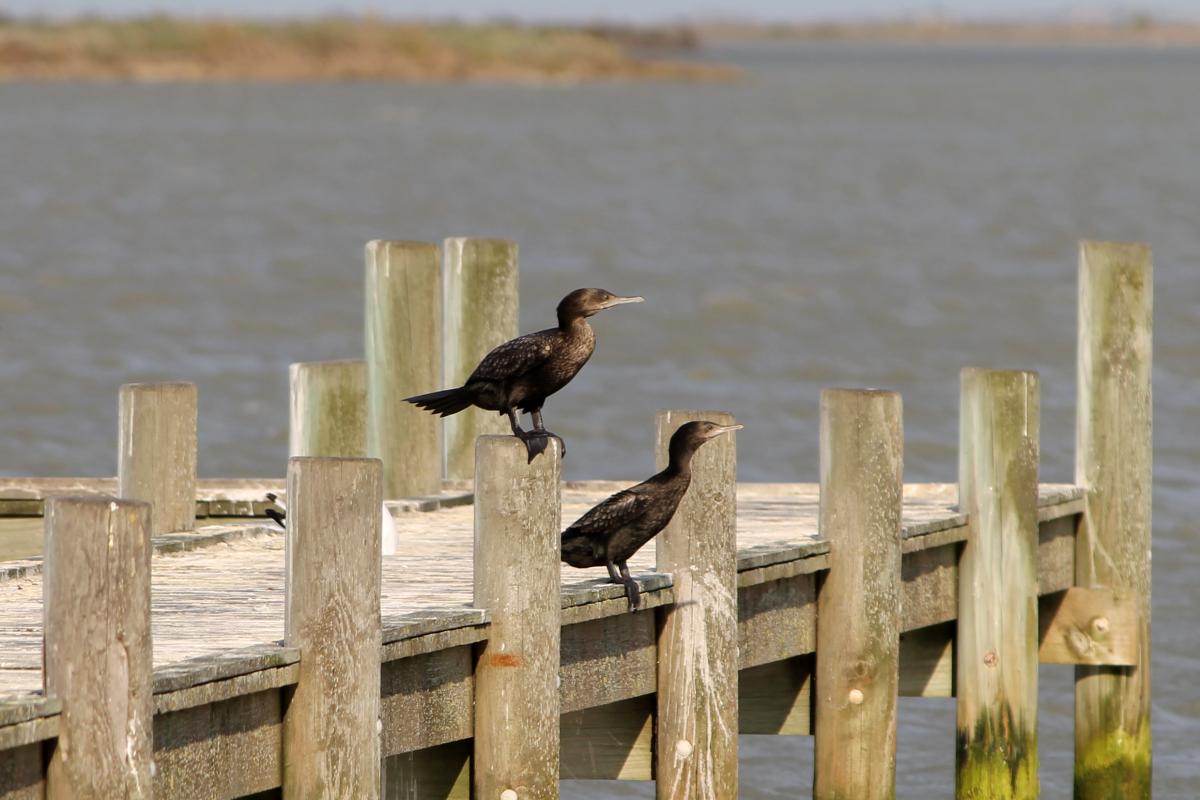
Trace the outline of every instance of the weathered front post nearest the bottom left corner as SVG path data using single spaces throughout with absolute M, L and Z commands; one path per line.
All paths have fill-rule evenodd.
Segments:
M 151 796 L 150 505 L 46 503 L 46 693 L 62 700 L 49 800 Z

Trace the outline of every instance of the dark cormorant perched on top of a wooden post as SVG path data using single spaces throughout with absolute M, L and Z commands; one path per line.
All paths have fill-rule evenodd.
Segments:
M 604 289 L 576 289 L 558 303 L 558 327 L 526 333 L 499 345 L 479 362 L 467 383 L 457 389 L 407 397 L 406 401 L 442 416 L 470 405 L 508 414 L 512 435 L 526 443 L 529 461 L 546 449 L 548 437 L 541 407 L 546 398 L 571 381 L 596 347 L 588 317 L 642 297 L 620 297 Z M 533 416 L 533 431 L 517 422 L 517 410 Z M 563 446 L 566 452 L 566 446 Z

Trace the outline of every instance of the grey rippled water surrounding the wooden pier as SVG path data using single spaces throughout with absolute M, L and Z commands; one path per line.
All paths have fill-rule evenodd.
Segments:
M 740 475 L 816 480 L 823 386 L 896 389 L 906 477 L 954 480 L 958 372 L 1042 373 L 1073 459 L 1080 237 L 1156 254 L 1156 792 L 1200 793 L 1200 52 L 727 50 L 733 86 L 0 84 L 0 474 L 112 475 L 116 387 L 200 387 L 200 471 L 282 475 L 287 365 L 361 351 L 361 245 L 521 243 L 522 327 L 644 306 L 547 408 L 569 477 L 640 477 L 656 408 L 734 411 Z M 1069 668 L 1042 784 L 1070 795 Z M 949 796 L 954 708 L 902 700 L 899 794 Z M 746 738 L 742 796 L 811 740 Z M 800 787 L 797 793 L 796 787 Z M 650 798 L 570 783 L 568 798 Z

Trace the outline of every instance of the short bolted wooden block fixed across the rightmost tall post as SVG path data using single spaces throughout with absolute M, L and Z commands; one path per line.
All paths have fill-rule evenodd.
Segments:
M 1132 667 L 1138 662 L 1138 604 L 1129 595 L 1073 587 L 1043 597 L 1038 613 L 1042 663 Z

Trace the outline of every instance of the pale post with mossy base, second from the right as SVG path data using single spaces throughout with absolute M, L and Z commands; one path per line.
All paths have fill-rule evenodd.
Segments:
M 959 800 L 1038 796 L 1038 375 L 964 369 Z

